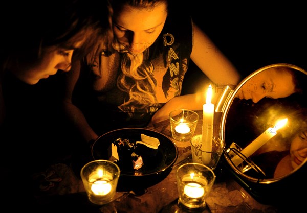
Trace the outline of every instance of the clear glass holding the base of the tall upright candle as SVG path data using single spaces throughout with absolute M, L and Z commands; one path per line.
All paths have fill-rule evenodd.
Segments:
M 220 138 L 213 137 L 212 144 L 209 146 L 211 150 L 203 150 L 202 145 L 202 135 L 194 135 L 191 139 L 192 160 L 214 170 L 224 151 L 225 143 Z

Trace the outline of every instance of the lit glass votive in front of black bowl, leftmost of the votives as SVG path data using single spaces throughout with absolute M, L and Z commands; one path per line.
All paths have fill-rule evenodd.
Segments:
M 92 203 L 104 205 L 113 200 L 120 175 L 117 164 L 108 160 L 94 160 L 86 163 L 80 174 Z

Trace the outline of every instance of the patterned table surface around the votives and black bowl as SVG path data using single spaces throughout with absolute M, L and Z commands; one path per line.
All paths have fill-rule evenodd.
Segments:
M 200 120 L 194 135 L 202 133 L 202 115 L 201 112 L 198 113 Z M 169 120 L 160 122 L 155 127 L 146 127 L 146 129 L 160 132 L 171 138 Z M 179 165 L 192 162 L 190 143 L 172 140 L 178 147 L 178 159 L 166 178 L 153 186 L 138 192 L 116 192 L 113 202 L 106 205 L 95 205 L 87 199 L 82 181 L 74 170 L 69 165 L 58 163 L 52 165 L 44 174 L 40 174 L 40 177 L 43 176 L 43 181 L 40 181 L 39 192 L 36 196 L 37 202 L 43 208 L 52 206 L 53 209 L 62 208 L 70 212 L 74 210 L 133 213 L 191 212 L 178 205 L 175 177 Z M 206 207 L 193 212 L 278 212 L 277 207 L 256 201 L 232 178 L 230 173 L 225 172 L 223 167 L 218 166 L 214 172 L 216 181 L 206 199 Z

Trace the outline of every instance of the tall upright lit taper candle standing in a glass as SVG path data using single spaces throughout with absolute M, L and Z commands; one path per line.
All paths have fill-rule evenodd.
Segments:
M 214 104 L 211 103 L 212 86 L 208 87 L 206 97 L 206 104 L 203 105 L 203 134 L 202 134 L 202 161 L 208 164 L 211 159 L 212 138 L 213 138 L 213 118 L 214 118 Z

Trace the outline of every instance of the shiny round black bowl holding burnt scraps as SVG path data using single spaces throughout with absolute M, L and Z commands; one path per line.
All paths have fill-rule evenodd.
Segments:
M 159 132 L 143 128 L 123 128 L 113 130 L 98 137 L 92 146 L 94 160 L 109 160 L 112 152 L 111 146 L 118 138 L 129 139 L 131 142 L 141 141 L 141 134 L 158 138 L 158 149 L 147 148 L 148 152 L 142 152 L 144 165 L 136 170 L 132 160 L 128 157 L 124 161 L 117 161 L 121 174 L 118 182 L 118 190 L 126 191 L 136 188 L 145 188 L 162 181 L 171 171 L 172 165 L 177 160 L 178 149 L 172 140 Z M 146 150 L 146 149 L 144 149 Z M 119 158 L 122 153 L 119 153 Z

